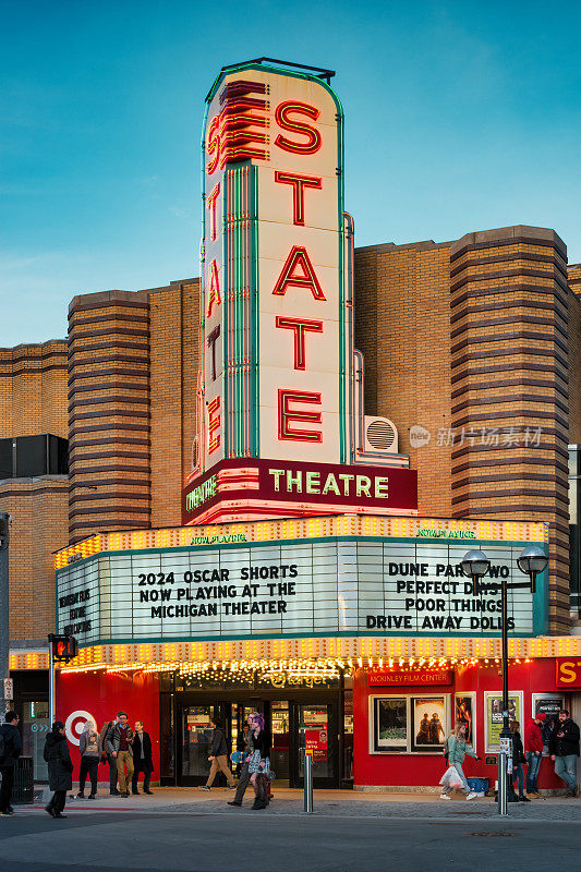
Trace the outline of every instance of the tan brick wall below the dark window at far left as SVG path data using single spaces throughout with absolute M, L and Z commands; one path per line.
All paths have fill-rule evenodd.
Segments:
M 52 552 L 69 541 L 69 482 L 62 475 L 0 482 L 10 530 L 10 640 L 46 642 L 55 632 Z

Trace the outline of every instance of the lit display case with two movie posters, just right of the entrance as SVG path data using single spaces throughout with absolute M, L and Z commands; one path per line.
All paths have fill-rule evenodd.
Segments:
M 449 694 L 370 698 L 370 753 L 441 753 L 449 734 Z

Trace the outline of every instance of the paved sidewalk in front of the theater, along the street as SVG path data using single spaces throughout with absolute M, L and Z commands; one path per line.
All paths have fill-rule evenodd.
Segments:
M 257 814 L 295 816 L 303 815 L 303 791 L 289 788 L 274 788 L 275 799 L 268 809 L 252 811 L 253 792 L 246 790 L 242 808 L 232 808 L 228 801 L 234 796 L 233 790 L 213 788 L 209 792 L 195 787 L 158 787 L 153 796 L 141 794 L 129 799 L 111 797 L 101 791 L 96 800 L 66 800 L 66 811 L 71 813 L 111 813 L 131 812 L 145 814 Z M 72 794 L 69 795 L 71 797 Z M 474 818 L 498 819 L 494 799 L 482 797 L 467 802 L 459 794 L 451 802 L 443 802 L 436 794 L 385 794 L 360 792 L 351 790 L 315 790 L 314 812 L 330 818 L 385 818 L 385 819 L 428 819 L 462 820 L 468 815 Z M 34 806 L 21 806 L 31 812 L 43 810 L 41 792 L 36 797 Z M 581 799 L 550 797 L 532 802 L 509 803 L 509 818 L 518 821 L 549 820 L 581 822 Z

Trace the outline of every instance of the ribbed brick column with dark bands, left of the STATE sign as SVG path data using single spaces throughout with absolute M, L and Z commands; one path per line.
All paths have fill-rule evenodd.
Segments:
M 147 292 L 75 296 L 69 306 L 69 530 L 148 526 Z

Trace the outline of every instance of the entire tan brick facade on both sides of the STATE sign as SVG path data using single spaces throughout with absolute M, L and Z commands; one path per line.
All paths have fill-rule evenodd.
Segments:
M 567 444 L 581 443 L 577 294 L 581 267 L 568 276 L 564 243 L 542 228 L 355 251 L 366 413 L 398 427 L 400 451 L 419 472 L 422 514 L 550 525 L 554 633 L 569 622 Z M 46 567 L 48 604 L 45 557 L 66 535 L 180 524 L 192 468 L 199 280 L 75 296 L 69 317 L 68 359 L 61 340 L 0 350 L 0 434 L 70 439 L 68 512 L 63 481 L 0 483 L 0 508 L 14 507 L 7 510 L 25 518 L 26 530 L 51 518 L 34 547 L 19 526 L 26 545 L 12 561 L 21 579 L 14 602 L 29 583 L 24 555 Z M 426 444 L 412 438 L 414 425 L 429 434 Z M 529 427 L 530 444 L 509 447 L 510 427 L 521 441 Z M 51 609 L 38 613 L 39 635 L 51 629 Z M 16 610 L 14 638 L 37 633 L 35 620 Z

